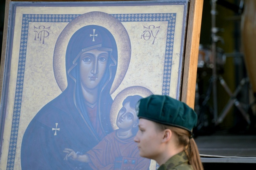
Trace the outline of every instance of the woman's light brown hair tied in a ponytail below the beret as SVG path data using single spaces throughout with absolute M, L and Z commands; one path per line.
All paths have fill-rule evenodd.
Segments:
M 156 127 L 161 131 L 170 129 L 172 132 L 174 132 L 178 138 L 178 145 L 184 146 L 184 151 L 186 152 L 189 159 L 189 164 L 193 166 L 194 170 L 204 170 L 197 144 L 195 143 L 193 137 L 191 138 L 191 133 L 189 131 L 178 127 L 163 125 L 160 123 L 156 123 Z

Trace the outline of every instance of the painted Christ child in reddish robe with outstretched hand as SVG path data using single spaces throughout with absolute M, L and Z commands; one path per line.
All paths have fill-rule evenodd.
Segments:
M 139 156 L 137 144 L 134 142 L 139 122 L 135 106 L 141 98 L 141 96 L 135 95 L 124 99 L 122 108 L 117 115 L 118 129 L 105 136 L 86 154 L 76 154 L 74 150 L 65 148 L 63 152 L 67 155 L 64 160 L 72 159 L 89 163 L 94 170 L 148 169 L 150 159 Z

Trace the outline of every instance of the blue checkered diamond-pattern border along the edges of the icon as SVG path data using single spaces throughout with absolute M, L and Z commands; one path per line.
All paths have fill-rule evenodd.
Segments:
M 115 18 L 117 18 L 120 22 L 168 21 L 162 94 L 169 95 L 176 13 L 112 14 L 112 15 Z M 18 137 L 18 130 L 19 130 L 20 108 L 21 108 L 21 101 L 22 101 L 24 71 L 25 71 L 25 63 L 26 63 L 28 24 L 29 22 L 70 22 L 78 16 L 80 16 L 80 14 L 23 14 L 22 16 L 19 66 L 18 66 L 15 102 L 14 102 L 14 108 L 13 108 L 13 121 L 12 121 L 11 137 L 10 137 L 10 143 L 9 143 L 9 152 L 8 152 L 6 170 L 13 170 L 14 168 L 17 137 Z

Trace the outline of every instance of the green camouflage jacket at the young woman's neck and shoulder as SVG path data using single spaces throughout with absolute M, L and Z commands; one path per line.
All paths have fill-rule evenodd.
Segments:
M 166 163 L 161 165 L 158 170 L 193 170 L 189 165 L 187 155 L 184 151 L 171 157 Z

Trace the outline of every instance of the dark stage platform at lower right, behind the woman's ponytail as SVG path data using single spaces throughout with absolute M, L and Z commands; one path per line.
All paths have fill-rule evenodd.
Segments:
M 224 166 L 256 169 L 256 135 L 217 134 L 195 137 L 205 170 Z

